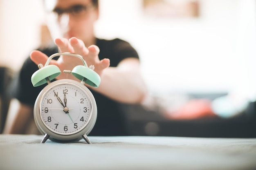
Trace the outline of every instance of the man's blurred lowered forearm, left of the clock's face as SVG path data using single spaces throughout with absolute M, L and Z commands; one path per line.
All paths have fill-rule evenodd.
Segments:
M 24 134 L 33 119 L 33 108 L 12 99 L 4 126 L 4 134 Z

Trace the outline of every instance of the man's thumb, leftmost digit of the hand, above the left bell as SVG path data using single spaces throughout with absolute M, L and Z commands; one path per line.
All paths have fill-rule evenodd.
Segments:
M 36 64 L 43 64 L 45 65 L 46 61 L 48 60 L 48 56 L 45 55 L 44 53 L 42 53 L 41 51 L 32 51 L 30 53 L 30 59 Z M 56 65 L 56 61 L 55 60 L 51 60 L 49 64 L 55 64 Z

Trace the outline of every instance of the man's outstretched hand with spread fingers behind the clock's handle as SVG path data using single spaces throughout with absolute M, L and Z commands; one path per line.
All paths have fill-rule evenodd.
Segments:
M 110 65 L 109 59 L 104 58 L 103 60 L 99 60 L 99 47 L 96 45 L 91 45 L 86 48 L 82 40 L 74 37 L 70 38 L 69 40 L 65 38 L 56 38 L 54 42 L 58 46 L 58 49 L 61 53 L 70 52 L 81 55 L 83 59 L 87 62 L 88 66 L 94 65 L 94 71 L 100 76 L 102 71 L 105 68 L 108 68 Z M 30 58 L 37 65 L 45 65 L 48 56 L 40 51 L 32 51 L 30 54 Z M 54 64 L 58 66 L 58 68 L 60 68 L 62 72 L 61 75 L 56 77 L 56 79 L 65 79 L 66 75 L 65 73 L 63 73 L 63 70 L 72 70 L 77 65 L 83 65 L 83 62 L 77 57 L 62 55 L 58 58 L 58 60 L 51 60 L 49 64 Z

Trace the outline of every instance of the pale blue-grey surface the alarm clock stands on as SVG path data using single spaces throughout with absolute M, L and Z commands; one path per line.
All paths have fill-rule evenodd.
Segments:
M 0 135 L 0 170 L 256 170 L 256 139 Z

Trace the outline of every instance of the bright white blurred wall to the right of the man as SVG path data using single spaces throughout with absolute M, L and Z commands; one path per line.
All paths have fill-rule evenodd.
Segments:
M 138 0 L 101 2 L 98 35 L 135 46 L 153 91 L 229 91 L 252 80 L 255 0 L 200 0 L 199 18 L 181 19 L 146 17 Z

